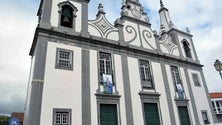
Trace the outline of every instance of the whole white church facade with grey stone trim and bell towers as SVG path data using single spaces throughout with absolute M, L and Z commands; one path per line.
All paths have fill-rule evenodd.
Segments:
M 139 0 L 125 0 L 114 25 L 102 4 L 89 20 L 88 4 L 41 0 L 25 125 L 216 122 L 195 41 L 162 1 L 159 32 Z

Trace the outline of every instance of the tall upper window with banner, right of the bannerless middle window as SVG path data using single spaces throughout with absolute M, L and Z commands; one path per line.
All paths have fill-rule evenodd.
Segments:
M 171 66 L 171 74 L 172 74 L 173 82 L 176 87 L 176 92 L 178 94 L 178 97 L 180 99 L 185 99 L 186 97 L 185 97 L 184 89 L 183 89 L 182 82 L 180 79 L 180 74 L 179 74 L 178 68 L 175 66 Z

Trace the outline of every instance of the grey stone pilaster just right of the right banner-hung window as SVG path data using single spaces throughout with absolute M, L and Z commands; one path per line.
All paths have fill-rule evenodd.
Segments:
M 190 82 L 190 78 L 189 78 L 189 74 L 187 69 L 184 69 L 185 72 L 185 77 L 186 77 L 186 81 L 187 81 L 187 86 L 188 86 L 188 90 L 189 90 L 189 94 L 190 94 L 190 100 L 191 100 L 191 105 L 193 107 L 193 112 L 194 112 L 194 118 L 195 118 L 195 125 L 200 125 L 200 121 L 198 118 L 198 111 L 197 111 L 197 107 L 196 107 L 196 102 L 195 102 L 195 98 L 194 98 L 194 94 L 192 91 L 192 85 Z

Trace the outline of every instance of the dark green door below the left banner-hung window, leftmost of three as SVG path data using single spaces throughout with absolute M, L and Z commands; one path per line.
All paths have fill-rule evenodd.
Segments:
M 100 125 L 118 125 L 116 104 L 100 104 Z

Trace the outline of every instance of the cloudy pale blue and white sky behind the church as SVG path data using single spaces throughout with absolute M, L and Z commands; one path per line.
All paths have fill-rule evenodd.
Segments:
M 0 7 L 0 114 L 23 112 L 27 92 L 31 48 L 40 0 L 5 0 Z M 153 30 L 159 30 L 159 0 L 140 0 Z M 98 3 L 104 5 L 113 24 L 120 17 L 121 0 L 91 0 L 89 19 L 96 17 Z M 222 1 L 164 0 L 175 26 L 189 27 L 210 92 L 222 92 L 222 80 L 213 67 L 222 60 Z

